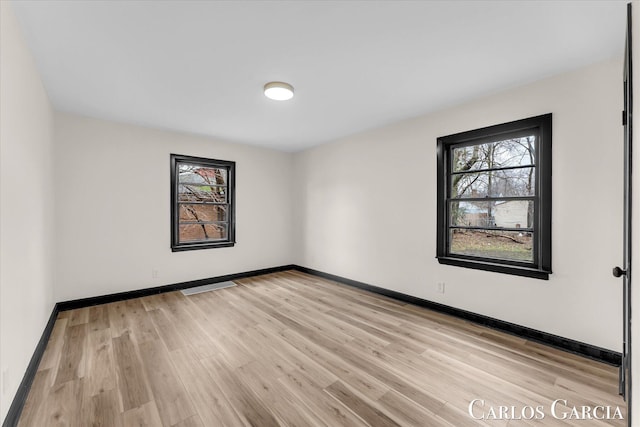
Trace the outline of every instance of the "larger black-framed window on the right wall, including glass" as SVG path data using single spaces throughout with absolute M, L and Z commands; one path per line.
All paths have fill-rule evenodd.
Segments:
M 441 264 L 549 279 L 551 114 L 438 138 Z

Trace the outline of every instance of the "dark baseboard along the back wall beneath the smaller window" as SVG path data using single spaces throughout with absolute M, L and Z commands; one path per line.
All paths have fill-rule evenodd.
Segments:
M 118 292 L 115 294 L 100 295 L 96 297 L 81 298 L 58 303 L 58 311 L 74 310 L 76 308 L 90 307 L 93 305 L 108 304 L 110 302 L 124 301 L 132 298 L 140 298 L 148 295 L 156 295 L 164 292 L 181 291 L 182 289 L 196 286 L 210 285 L 212 283 L 226 282 L 227 280 L 244 279 L 245 277 L 260 276 L 262 274 L 277 273 L 279 271 L 293 270 L 294 265 L 282 265 L 280 267 L 263 268 L 260 270 L 245 271 L 244 273 L 227 274 L 224 276 L 209 277 L 207 279 L 190 280 L 188 282 L 173 283 L 171 285 L 156 286 L 153 288 L 137 289 L 135 291 Z

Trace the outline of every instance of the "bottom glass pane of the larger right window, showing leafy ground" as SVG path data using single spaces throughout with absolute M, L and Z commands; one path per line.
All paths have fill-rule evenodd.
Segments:
M 449 236 L 452 254 L 533 262 L 532 233 L 450 230 Z

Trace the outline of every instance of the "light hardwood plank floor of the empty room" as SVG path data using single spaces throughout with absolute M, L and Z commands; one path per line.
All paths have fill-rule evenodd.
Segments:
M 626 424 L 551 414 L 624 411 L 615 367 L 299 272 L 237 283 L 60 313 L 19 425 Z

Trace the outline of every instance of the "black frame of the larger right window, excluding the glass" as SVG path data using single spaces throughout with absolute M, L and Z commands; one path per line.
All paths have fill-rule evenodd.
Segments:
M 437 138 L 437 248 L 440 264 L 506 273 L 548 280 L 551 270 L 551 140 L 552 114 L 515 120 L 494 126 Z M 452 152 L 457 147 L 498 142 L 522 132 L 537 136 L 535 151 L 535 194 L 533 195 L 533 262 L 520 262 L 451 253 L 449 205 L 452 184 Z M 495 198 L 489 198 L 495 199 Z M 504 197 L 499 198 L 501 200 Z M 520 200 L 521 198 L 516 198 Z M 488 227 L 480 227 L 488 229 Z

